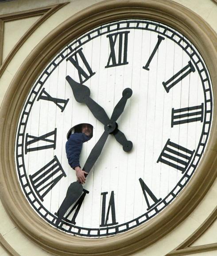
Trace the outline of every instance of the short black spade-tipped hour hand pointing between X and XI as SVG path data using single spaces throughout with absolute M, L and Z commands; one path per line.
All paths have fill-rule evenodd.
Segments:
M 102 124 L 108 124 L 110 120 L 109 116 L 107 116 L 105 110 L 99 104 L 97 104 L 96 101 L 93 101 L 93 99 L 89 97 L 89 88 L 86 85 L 77 83 L 70 76 L 66 76 L 66 80 L 72 88 L 76 101 L 79 103 L 85 103 L 97 120 L 99 120 Z

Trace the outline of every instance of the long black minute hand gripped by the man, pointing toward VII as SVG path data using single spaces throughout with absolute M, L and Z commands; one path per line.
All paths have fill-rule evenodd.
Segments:
M 105 132 L 103 132 L 100 139 L 97 141 L 96 145 L 91 150 L 89 157 L 86 160 L 82 170 L 89 173 L 93 165 L 96 163 L 99 155 L 101 154 L 101 151 L 105 145 L 105 142 L 108 136 L 109 136 L 109 131 L 107 129 L 105 130 Z M 66 197 L 58 209 L 58 213 L 57 213 L 58 218 L 56 221 L 56 226 L 59 225 L 60 221 L 62 220 L 63 216 L 65 215 L 66 211 L 70 208 L 70 206 L 72 206 L 77 201 L 77 199 L 80 198 L 82 191 L 83 191 L 83 186 L 78 181 L 70 184 L 66 192 Z

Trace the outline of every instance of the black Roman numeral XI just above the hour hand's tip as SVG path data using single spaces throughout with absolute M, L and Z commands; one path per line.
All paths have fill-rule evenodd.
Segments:
M 83 84 L 85 81 L 91 78 L 94 74 L 96 74 L 95 72 L 92 71 L 91 67 L 89 66 L 89 63 L 87 62 L 85 55 L 82 52 L 82 48 L 80 48 L 74 54 L 72 54 L 69 58 L 67 58 L 67 61 L 68 60 L 77 69 L 81 84 Z M 85 70 L 84 70 L 84 67 L 85 67 Z

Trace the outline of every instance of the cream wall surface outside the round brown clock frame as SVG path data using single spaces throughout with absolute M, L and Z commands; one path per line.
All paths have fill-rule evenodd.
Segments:
M 118 1 L 118 0 L 117 0 Z M 182 4 L 183 6 L 190 8 L 192 11 L 201 16 L 209 25 L 217 32 L 217 4 L 213 0 L 174 0 L 175 2 Z M 69 4 L 62 6 L 53 12 L 47 19 L 36 27 L 23 42 L 23 45 L 12 54 L 13 47 L 18 43 L 19 39 L 28 33 L 32 29 L 34 23 L 39 21 L 44 15 L 43 13 L 35 13 L 25 17 L 17 16 L 17 19 L 8 20 L 5 17 L 15 12 L 30 12 L 33 9 L 45 8 L 47 6 L 53 6 L 65 3 L 65 0 L 15 0 L 0 4 L 0 18 L 4 19 L 4 38 L 3 38 L 3 64 L 0 66 L 0 105 L 4 99 L 4 95 L 19 69 L 19 66 L 27 58 L 31 50 L 55 27 L 61 24 L 70 16 L 81 11 L 84 8 L 89 7 L 92 4 L 101 2 L 101 0 L 68 0 Z M 0 22 L 1 24 L 1 22 Z M 13 40 L 12 40 L 13 39 Z M 0 38 L 0 40 L 2 40 Z M 1 51 L 0 51 L 1 53 Z M 9 58 L 10 57 L 10 58 Z M 9 60 L 7 59 L 9 58 Z M 5 64 L 4 62 L 8 62 Z M 161 240 L 155 242 L 155 244 L 134 253 L 135 256 L 164 256 L 173 251 L 185 240 L 189 239 L 191 235 L 198 229 L 202 228 L 203 224 L 209 219 L 209 216 L 213 213 L 216 207 L 217 198 L 217 181 L 213 183 L 205 198 L 197 206 L 196 209 L 184 220 L 178 227 L 164 236 Z M 31 240 L 27 239 L 23 233 L 15 226 L 10 220 L 8 214 L 5 212 L 4 207 L 0 202 L 0 256 L 13 255 L 21 256 L 46 256 L 51 255 L 39 248 Z M 217 249 L 208 244 L 217 243 L 217 220 L 209 226 L 208 229 L 202 230 L 198 235 L 198 238 L 193 241 L 187 247 L 186 252 L 183 252 L 185 256 L 215 256 L 217 255 Z M 202 251 L 205 245 L 209 251 Z M 193 254 L 188 254 L 191 248 L 198 248 Z M 196 248 L 196 249 L 197 249 Z M 183 250 L 183 248 L 182 248 Z M 181 251 L 180 251 L 181 252 Z M 175 254 L 170 254 L 175 255 Z M 178 254 L 177 254 L 178 255 Z

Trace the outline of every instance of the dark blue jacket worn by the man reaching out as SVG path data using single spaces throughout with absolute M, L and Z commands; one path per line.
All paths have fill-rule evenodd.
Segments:
M 91 137 L 86 136 L 84 133 L 72 133 L 69 140 L 66 142 L 66 155 L 70 167 L 74 169 L 80 166 L 79 158 L 81 154 L 82 145 L 84 142 L 90 140 Z

